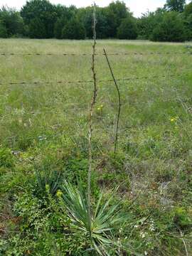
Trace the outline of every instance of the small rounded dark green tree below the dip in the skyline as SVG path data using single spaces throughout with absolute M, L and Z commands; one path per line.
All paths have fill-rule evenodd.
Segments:
M 136 39 L 137 38 L 137 23 L 131 16 L 124 18 L 117 30 L 119 39 Z

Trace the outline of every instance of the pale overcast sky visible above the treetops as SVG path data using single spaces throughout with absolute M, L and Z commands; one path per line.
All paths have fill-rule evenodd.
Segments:
M 107 6 L 112 0 L 95 0 L 98 6 Z M 77 7 L 90 6 L 91 0 L 50 0 L 53 4 L 63 4 L 65 6 L 75 5 Z M 124 0 L 127 7 L 134 13 L 134 16 L 141 16 L 142 13 L 156 10 L 157 7 L 163 7 L 166 0 Z M 26 0 L 0 0 L 0 6 L 7 5 L 20 9 Z

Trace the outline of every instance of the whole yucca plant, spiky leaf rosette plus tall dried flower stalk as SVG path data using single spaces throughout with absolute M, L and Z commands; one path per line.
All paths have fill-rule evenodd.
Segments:
M 97 80 L 95 71 L 96 55 L 96 6 L 93 6 L 92 31 L 92 78 L 93 92 L 90 111 L 88 115 L 88 150 L 89 150 L 89 168 L 87 174 L 87 195 L 81 184 L 75 188 L 65 181 L 63 186 L 63 199 L 68 210 L 68 215 L 72 221 L 72 231 L 80 232 L 82 236 L 89 237 L 86 250 L 92 255 L 110 256 L 110 250 L 117 252 L 119 243 L 114 240 L 112 232 L 114 227 L 121 227 L 125 219 L 119 214 L 119 203 L 112 204 L 114 193 L 107 201 L 103 201 L 103 193 L 97 201 L 94 210 L 91 207 L 91 176 L 92 176 L 92 114 L 97 99 Z M 114 191 L 116 192 L 117 189 Z M 116 253 L 117 254 L 117 253 Z

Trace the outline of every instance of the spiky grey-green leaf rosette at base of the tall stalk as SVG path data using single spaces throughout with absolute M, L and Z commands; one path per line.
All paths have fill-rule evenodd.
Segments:
M 90 241 L 87 250 L 95 251 L 97 255 L 109 255 L 109 250 L 116 242 L 112 239 L 112 227 L 121 225 L 124 221 L 117 213 L 119 203 L 110 206 L 111 196 L 102 203 L 103 193 L 97 201 L 94 213 L 89 217 L 88 199 L 80 183 L 78 187 L 65 181 L 63 186 L 63 199 L 72 222 L 73 232 L 80 231 Z

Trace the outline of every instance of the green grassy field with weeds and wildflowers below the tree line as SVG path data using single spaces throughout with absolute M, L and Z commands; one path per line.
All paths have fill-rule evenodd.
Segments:
M 37 170 L 54 170 L 86 186 L 92 83 L 65 81 L 92 80 L 92 41 L 9 39 L 0 46 L 0 53 L 18 54 L 0 55 L 0 255 L 93 255 L 85 252 L 81 235 L 66 237 L 65 210 L 57 196 L 42 197 L 36 181 Z M 192 254 L 190 46 L 97 41 L 97 80 L 111 80 L 103 48 L 109 54 L 143 53 L 109 56 L 116 78 L 133 78 L 118 82 L 117 154 L 113 82 L 97 83 L 93 116 L 92 201 L 119 184 L 114 201 L 122 199 L 127 221 L 114 236 L 132 248 L 119 255 Z M 43 83 L 33 84 L 38 81 Z M 48 83 L 56 81 L 63 82 Z

